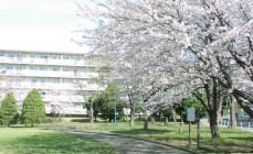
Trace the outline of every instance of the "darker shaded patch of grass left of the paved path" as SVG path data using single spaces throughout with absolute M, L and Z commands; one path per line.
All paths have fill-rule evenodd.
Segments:
M 106 143 L 70 133 L 42 133 L 18 138 L 6 144 L 17 153 L 117 153 Z

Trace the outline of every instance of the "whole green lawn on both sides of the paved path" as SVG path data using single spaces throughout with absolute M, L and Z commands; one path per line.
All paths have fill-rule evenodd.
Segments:
M 127 122 L 117 124 L 99 121 L 91 124 L 87 119 L 64 118 L 62 122 L 41 124 L 35 128 L 0 128 L 0 153 L 118 153 L 104 142 L 85 138 L 80 134 L 63 133 L 55 130 L 114 133 L 126 136 L 155 140 L 170 145 L 181 146 L 200 153 L 253 153 L 253 132 L 219 128 L 221 138 L 211 139 L 208 125 L 201 125 L 200 150 L 196 147 L 196 125 L 192 124 L 192 146 L 188 147 L 188 124 L 183 132 L 179 125 L 162 122 L 149 123 L 144 131 L 143 122 L 136 121 L 135 127 Z

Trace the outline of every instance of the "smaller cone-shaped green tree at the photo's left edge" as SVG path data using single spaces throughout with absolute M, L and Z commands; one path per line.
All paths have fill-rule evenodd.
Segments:
M 0 118 L 3 125 L 10 127 L 12 123 L 18 121 L 18 105 L 17 100 L 13 97 L 13 94 L 10 92 L 7 95 L 6 99 L 1 103 L 0 108 Z

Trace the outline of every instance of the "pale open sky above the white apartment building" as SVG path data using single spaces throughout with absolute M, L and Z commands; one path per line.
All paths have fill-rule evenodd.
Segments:
M 86 0 L 0 0 L 0 50 L 87 52 L 71 40 L 92 26 L 76 15 Z

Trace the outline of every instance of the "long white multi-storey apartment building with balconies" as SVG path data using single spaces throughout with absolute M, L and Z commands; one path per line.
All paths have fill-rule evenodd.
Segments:
M 0 50 L 0 99 L 12 91 L 21 108 L 28 92 L 35 88 L 46 113 L 86 114 L 85 99 L 106 88 L 98 63 L 84 53 Z

